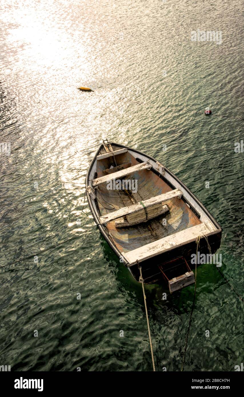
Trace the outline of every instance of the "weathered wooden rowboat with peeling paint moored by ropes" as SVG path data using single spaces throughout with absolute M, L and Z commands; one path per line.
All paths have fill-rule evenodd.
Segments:
M 212 254 L 220 246 L 222 229 L 198 198 L 139 150 L 103 141 L 87 171 L 86 195 L 103 237 L 137 281 L 141 266 L 145 283 L 164 280 L 176 291 L 195 281 L 198 236 L 201 254 L 209 254 L 208 244 Z

